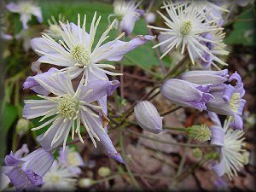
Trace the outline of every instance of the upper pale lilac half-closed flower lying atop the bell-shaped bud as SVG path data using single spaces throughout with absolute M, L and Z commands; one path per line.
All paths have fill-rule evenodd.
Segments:
M 181 75 L 181 79 L 194 84 L 222 84 L 229 78 L 229 70 L 221 71 L 189 71 Z

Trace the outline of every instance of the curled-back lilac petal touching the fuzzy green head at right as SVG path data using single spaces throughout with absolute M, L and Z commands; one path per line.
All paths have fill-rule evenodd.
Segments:
M 224 129 L 221 126 L 210 126 L 212 132 L 211 144 L 217 146 L 224 146 Z

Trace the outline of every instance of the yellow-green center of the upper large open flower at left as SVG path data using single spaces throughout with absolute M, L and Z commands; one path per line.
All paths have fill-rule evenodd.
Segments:
M 73 60 L 77 62 L 77 66 L 86 67 L 90 65 L 90 53 L 83 44 L 74 46 L 71 55 L 73 56 Z

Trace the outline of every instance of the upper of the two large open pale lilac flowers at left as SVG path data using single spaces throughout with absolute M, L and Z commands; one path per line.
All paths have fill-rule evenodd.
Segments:
M 38 59 L 38 62 L 44 62 L 53 64 L 56 66 L 66 67 L 63 71 L 69 70 L 72 79 L 83 73 L 85 76 L 84 84 L 88 82 L 88 76 L 90 73 L 96 75 L 96 72 L 100 71 L 109 75 L 120 75 L 120 73 L 109 72 L 106 68 L 115 68 L 110 64 L 101 63 L 102 61 L 120 61 L 125 53 L 137 48 L 142 44 L 145 44 L 148 40 L 154 39 L 152 36 L 137 36 L 130 42 L 119 41 L 120 35 L 113 41 L 107 44 L 102 43 L 108 39 L 108 32 L 113 28 L 114 22 L 108 27 L 108 29 L 102 33 L 102 37 L 99 39 L 95 47 L 95 35 L 97 26 L 99 25 L 101 16 L 96 20 L 96 13 L 92 19 L 90 25 L 90 32 L 85 31 L 86 15 L 84 15 L 84 22 L 82 28 L 80 26 L 80 15 L 78 15 L 78 26 L 73 23 L 67 23 L 61 25 L 61 37 L 63 41 L 59 41 L 60 44 L 55 42 L 49 35 L 44 34 L 41 38 L 35 38 L 32 40 L 32 44 L 37 44 L 37 51 L 42 56 Z M 42 45 L 42 46 L 41 46 Z M 98 77 L 102 79 L 102 77 Z M 106 79 L 105 79 L 106 80 Z

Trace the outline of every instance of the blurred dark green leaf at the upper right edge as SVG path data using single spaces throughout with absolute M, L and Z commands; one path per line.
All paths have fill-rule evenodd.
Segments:
M 236 18 L 233 23 L 233 30 L 224 39 L 226 44 L 242 44 L 245 46 L 255 46 L 255 11 L 246 9 Z

